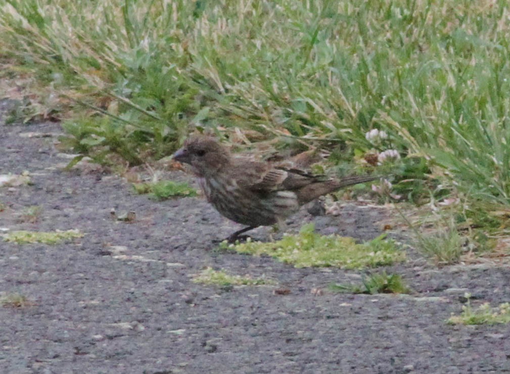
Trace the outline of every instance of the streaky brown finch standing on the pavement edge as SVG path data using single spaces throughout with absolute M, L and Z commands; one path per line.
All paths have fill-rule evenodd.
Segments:
M 377 179 L 353 176 L 330 179 L 272 162 L 255 161 L 230 151 L 210 136 L 192 136 L 173 154 L 191 165 L 207 200 L 221 215 L 247 225 L 227 238 L 258 226 L 282 223 L 299 206 L 342 187 Z

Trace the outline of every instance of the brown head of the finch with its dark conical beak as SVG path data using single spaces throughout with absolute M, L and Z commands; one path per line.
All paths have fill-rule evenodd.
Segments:
M 212 176 L 230 161 L 230 152 L 216 139 L 205 135 L 189 137 L 173 159 L 192 166 L 200 177 Z

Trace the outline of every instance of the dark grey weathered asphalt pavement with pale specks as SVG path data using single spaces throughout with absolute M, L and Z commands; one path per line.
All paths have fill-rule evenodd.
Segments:
M 0 228 L 79 229 L 59 245 L 0 242 L 0 291 L 30 304 L 0 307 L 3 373 L 478 373 L 510 371 L 510 327 L 451 326 L 463 295 L 472 303 L 510 300 L 510 269 L 487 261 L 437 268 L 410 252 L 402 274 L 411 295 L 333 293 L 331 282 L 363 272 L 295 269 L 269 257 L 215 251 L 240 226 L 201 197 L 163 202 L 136 195 L 101 169 L 65 171 L 56 123 L 4 125 L 0 174 L 30 173 L 32 184 L 0 187 Z M 28 136 L 27 133 L 32 133 Z M 39 137 L 41 134 L 47 137 Z M 192 180 L 183 172 L 170 174 Z M 23 219 L 23 208 L 41 207 Z M 111 216 L 134 211 L 133 222 Z M 380 233 L 390 212 L 347 202 L 316 222 L 323 233 L 360 239 Z M 270 230 L 254 236 L 268 239 Z M 206 266 L 266 275 L 277 285 L 196 284 Z M 288 295 L 275 292 L 287 289 Z M 286 292 L 282 292 L 286 293 Z M 2 294 L 0 294 L 2 295 Z

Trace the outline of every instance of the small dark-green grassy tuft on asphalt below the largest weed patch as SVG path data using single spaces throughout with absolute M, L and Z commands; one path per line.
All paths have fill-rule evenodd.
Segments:
M 363 277 L 362 284 L 331 284 L 329 289 L 352 293 L 409 293 L 410 289 L 399 274 L 386 272 Z

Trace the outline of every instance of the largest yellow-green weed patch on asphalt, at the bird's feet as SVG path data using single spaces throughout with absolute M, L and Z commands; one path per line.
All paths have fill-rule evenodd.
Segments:
M 313 224 L 304 225 L 299 234 L 284 235 L 274 243 L 246 242 L 237 245 L 221 244 L 224 249 L 251 255 L 269 255 L 296 268 L 337 266 L 343 269 L 375 268 L 403 261 L 405 253 L 384 235 L 370 242 L 356 244 L 351 237 L 320 235 Z

